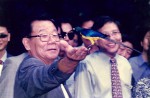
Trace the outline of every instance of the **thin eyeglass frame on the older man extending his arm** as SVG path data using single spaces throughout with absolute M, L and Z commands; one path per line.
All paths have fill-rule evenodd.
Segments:
M 43 40 L 42 38 L 44 38 L 44 36 L 48 36 L 47 37 L 47 40 Z M 42 41 L 42 42 L 48 42 L 50 39 L 50 36 L 56 41 L 56 42 L 58 42 L 58 41 L 60 41 L 60 34 L 39 34 L 39 35 L 28 35 L 28 36 L 26 36 L 27 38 L 33 38 L 33 37 L 40 37 L 40 41 Z M 56 40 L 56 36 L 58 37 L 58 39 Z

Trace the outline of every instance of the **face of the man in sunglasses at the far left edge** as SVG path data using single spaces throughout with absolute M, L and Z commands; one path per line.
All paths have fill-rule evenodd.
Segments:
M 0 35 L 7 35 L 6 37 L 0 37 L 0 51 L 6 49 L 8 42 L 10 41 L 10 33 L 8 33 L 5 27 L 0 26 Z

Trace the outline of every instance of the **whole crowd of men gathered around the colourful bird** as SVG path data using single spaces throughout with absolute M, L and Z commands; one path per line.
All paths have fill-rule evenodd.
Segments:
M 106 35 L 94 43 L 70 19 L 31 15 L 23 26 L 26 52 L 12 56 L 7 52 L 11 34 L 0 24 L 0 98 L 150 97 L 149 23 L 137 28 L 142 51 L 134 57 L 134 41 L 110 16 L 80 22 L 81 28 Z

